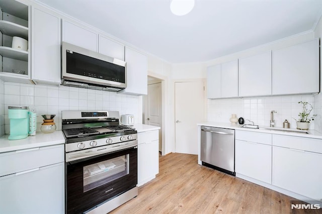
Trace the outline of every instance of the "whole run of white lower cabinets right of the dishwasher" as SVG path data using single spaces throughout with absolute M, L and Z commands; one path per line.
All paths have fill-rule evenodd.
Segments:
M 322 201 L 321 145 L 321 139 L 236 130 L 236 176 L 300 200 Z

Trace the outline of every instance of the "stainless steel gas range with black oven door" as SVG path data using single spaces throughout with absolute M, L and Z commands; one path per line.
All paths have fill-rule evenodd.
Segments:
M 137 196 L 137 131 L 116 111 L 62 111 L 66 213 L 107 213 Z

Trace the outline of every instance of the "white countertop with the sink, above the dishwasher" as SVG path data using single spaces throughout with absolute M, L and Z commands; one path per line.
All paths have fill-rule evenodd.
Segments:
M 282 127 L 265 127 L 260 126 L 260 128 L 265 129 L 250 129 L 250 128 L 241 128 L 243 125 L 232 125 L 231 123 L 220 123 L 220 122 L 201 122 L 197 124 L 198 126 L 210 126 L 210 127 L 218 127 L 218 128 L 225 128 L 225 129 L 234 129 L 234 130 L 243 130 L 243 131 L 250 131 L 250 132 L 262 132 L 262 133 L 269 133 L 269 134 L 278 134 L 278 135 L 288 135 L 288 136 L 296 136 L 296 137 L 306 137 L 306 138 L 315 138 L 315 139 L 322 139 L 322 133 L 316 130 L 298 130 L 298 129 L 284 129 Z M 295 132 L 287 132 L 287 131 L 297 131 Z M 300 133 L 300 132 L 308 132 L 309 134 Z

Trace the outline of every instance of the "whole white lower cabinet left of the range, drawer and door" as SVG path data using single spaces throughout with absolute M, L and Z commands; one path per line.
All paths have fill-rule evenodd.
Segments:
M 64 145 L 2 153 L 0 162 L 11 165 L 0 169 L 0 213 L 64 213 Z

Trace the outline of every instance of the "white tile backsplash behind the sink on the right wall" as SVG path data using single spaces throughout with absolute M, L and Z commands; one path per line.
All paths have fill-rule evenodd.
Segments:
M 256 125 L 270 126 L 271 111 L 275 110 L 275 127 L 283 127 L 286 119 L 290 128 L 296 128 L 293 118 L 298 119 L 298 114 L 302 111 L 298 101 L 307 101 L 314 106 L 313 95 L 208 99 L 207 120 L 229 123 L 231 114 L 236 114 L 237 118 L 243 117 L 246 124 L 249 124 L 247 120 L 250 120 Z M 314 110 L 311 114 L 316 114 Z M 314 121 L 311 121 L 309 129 L 314 129 Z

